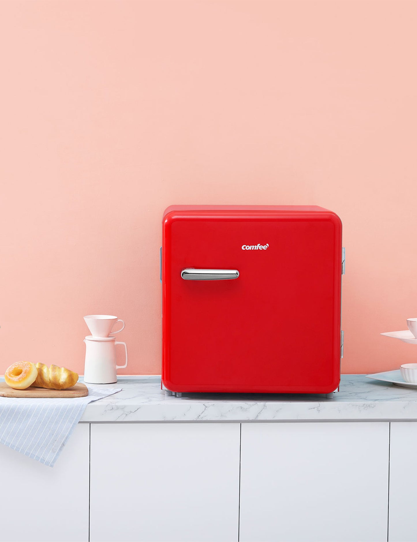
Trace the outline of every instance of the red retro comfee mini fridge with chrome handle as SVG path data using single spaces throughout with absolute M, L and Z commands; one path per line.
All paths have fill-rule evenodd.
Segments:
M 344 250 L 334 212 L 173 205 L 163 216 L 161 257 L 167 390 L 338 388 Z

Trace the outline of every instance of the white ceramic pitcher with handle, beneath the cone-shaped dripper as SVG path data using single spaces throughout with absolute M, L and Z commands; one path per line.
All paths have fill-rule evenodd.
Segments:
M 117 369 L 127 367 L 126 343 L 115 340 L 115 337 L 93 337 L 87 335 L 84 382 L 87 384 L 114 384 L 117 382 Z M 126 352 L 126 363 L 116 364 L 116 345 L 123 344 Z

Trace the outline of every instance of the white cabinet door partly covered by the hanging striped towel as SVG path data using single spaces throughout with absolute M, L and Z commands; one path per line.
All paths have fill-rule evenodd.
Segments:
M 87 541 L 88 471 L 88 423 L 52 468 L 0 444 L 0 540 Z

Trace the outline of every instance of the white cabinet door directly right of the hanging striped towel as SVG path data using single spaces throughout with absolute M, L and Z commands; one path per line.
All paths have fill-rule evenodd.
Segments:
M 90 540 L 238 540 L 239 423 L 91 425 Z

